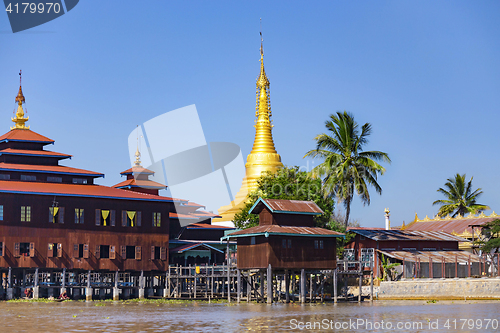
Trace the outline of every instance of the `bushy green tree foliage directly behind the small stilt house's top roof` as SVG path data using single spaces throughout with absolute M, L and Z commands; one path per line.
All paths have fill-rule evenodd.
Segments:
M 286 199 L 314 201 L 324 214 L 315 216 L 318 227 L 328 227 L 333 213 L 334 201 L 324 197 L 321 191 L 321 180 L 308 177 L 307 172 L 299 167 L 283 167 L 275 173 L 264 172 L 257 179 L 257 190 L 250 193 L 245 207 L 235 215 L 234 224 L 245 229 L 259 224 L 259 216 L 248 214 L 259 197 L 263 199 Z

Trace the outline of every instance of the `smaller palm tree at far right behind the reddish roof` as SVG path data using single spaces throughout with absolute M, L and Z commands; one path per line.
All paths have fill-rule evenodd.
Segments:
M 477 198 L 483 194 L 480 188 L 472 191 L 472 178 L 469 182 L 465 181 L 465 174 L 456 174 L 455 178 L 448 178 L 444 184 L 444 188 L 440 187 L 438 192 L 444 194 L 445 200 L 436 200 L 433 205 L 441 205 L 438 215 L 444 217 L 453 213 L 452 217 L 458 214 L 464 216 L 466 213 L 480 213 L 483 210 L 490 209 L 490 207 L 476 203 Z

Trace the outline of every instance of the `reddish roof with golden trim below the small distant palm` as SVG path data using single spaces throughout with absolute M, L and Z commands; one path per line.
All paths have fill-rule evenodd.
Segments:
M 417 221 L 408 225 L 405 231 L 444 231 L 448 233 L 472 233 L 471 225 L 483 225 L 498 219 L 498 217 L 463 218 L 453 220 Z

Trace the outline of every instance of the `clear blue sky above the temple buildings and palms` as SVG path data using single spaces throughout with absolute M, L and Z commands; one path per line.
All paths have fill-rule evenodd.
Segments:
M 105 173 L 100 184 L 130 166 L 137 124 L 190 104 L 207 141 L 234 142 L 246 156 L 262 18 L 286 165 L 306 166 L 328 115 L 347 110 L 373 125 L 367 149 L 393 161 L 382 196 L 354 200 L 362 225 L 382 226 L 385 207 L 393 225 L 434 215 L 436 190 L 457 172 L 474 176 L 480 202 L 498 211 L 499 14 L 498 1 L 86 0 L 16 34 L 0 14 L 0 132 L 22 68 L 32 130 L 74 155 L 67 165 Z

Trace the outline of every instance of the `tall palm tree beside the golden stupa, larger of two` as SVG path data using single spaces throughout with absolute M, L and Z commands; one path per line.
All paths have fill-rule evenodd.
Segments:
M 368 143 L 372 127 L 369 123 L 359 126 L 352 114 L 344 111 L 331 114 L 325 122 L 328 134 L 319 134 L 314 140 L 316 149 L 310 150 L 304 157 L 321 158 L 324 161 L 311 170 L 311 176 L 323 179 L 323 194 L 337 196 L 346 209 L 344 224 L 347 227 L 351 211 L 351 201 L 357 193 L 363 204 L 370 204 L 368 185 L 382 193 L 377 183 L 377 175 L 385 169 L 377 161 L 390 163 L 386 153 L 381 151 L 363 151 Z

